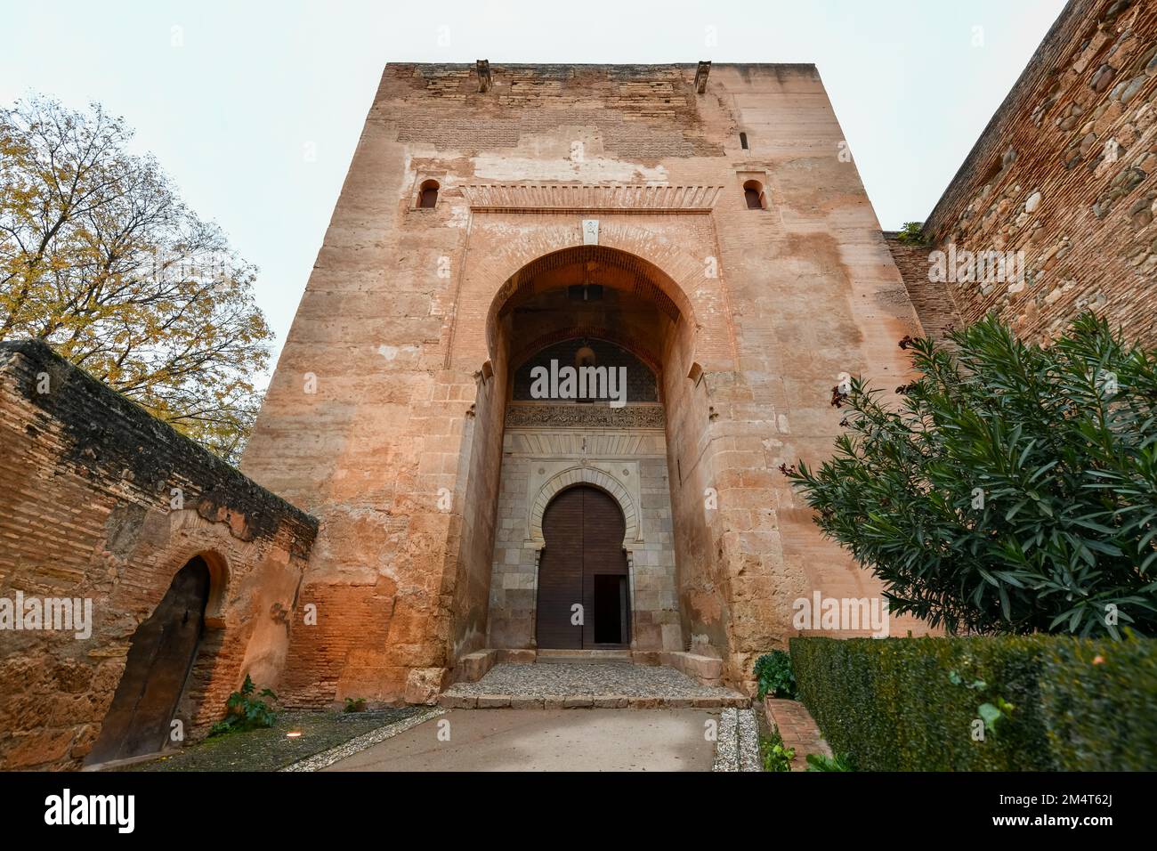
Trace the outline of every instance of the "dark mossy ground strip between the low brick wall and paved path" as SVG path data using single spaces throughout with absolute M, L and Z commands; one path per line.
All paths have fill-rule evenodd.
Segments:
M 124 765 L 116 771 L 279 771 L 314 756 L 371 734 L 386 725 L 404 721 L 425 706 L 371 712 L 282 712 L 272 727 L 229 733 L 191 744 L 172 756 Z M 288 738 L 286 733 L 301 732 Z

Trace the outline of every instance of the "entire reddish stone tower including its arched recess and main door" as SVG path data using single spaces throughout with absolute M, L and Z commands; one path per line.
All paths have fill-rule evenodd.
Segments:
M 386 66 L 242 463 L 320 521 L 281 691 L 560 646 L 749 681 L 795 600 L 879 596 L 778 468 L 920 332 L 811 65 Z

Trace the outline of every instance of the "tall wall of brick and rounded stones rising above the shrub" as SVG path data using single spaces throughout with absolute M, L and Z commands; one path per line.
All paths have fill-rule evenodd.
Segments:
M 1023 280 L 948 284 L 965 323 L 996 311 L 1044 340 L 1092 308 L 1154 344 L 1155 213 L 1157 5 L 1071 0 L 924 233 L 958 258 L 1023 252 Z

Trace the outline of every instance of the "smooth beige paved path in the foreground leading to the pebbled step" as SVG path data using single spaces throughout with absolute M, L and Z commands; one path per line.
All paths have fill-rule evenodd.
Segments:
M 718 720 L 694 709 L 451 710 L 324 770 L 710 771 Z

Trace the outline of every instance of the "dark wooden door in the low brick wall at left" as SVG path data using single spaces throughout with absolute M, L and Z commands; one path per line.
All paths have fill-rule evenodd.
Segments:
M 209 570 L 193 558 L 174 577 L 153 615 L 137 628 L 88 764 L 161 750 L 197 656 L 209 596 Z

